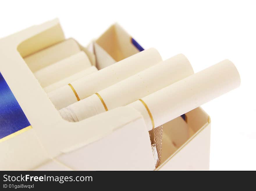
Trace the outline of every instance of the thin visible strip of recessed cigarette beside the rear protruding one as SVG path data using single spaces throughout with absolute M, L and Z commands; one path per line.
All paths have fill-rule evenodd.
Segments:
M 86 68 L 85 70 L 77 72 L 77 73 L 73 74 L 72 76 L 69 76 L 65 79 L 62 79 L 60 81 L 57 81 L 56 83 L 51 84 L 50 86 L 45 87 L 44 90 L 46 93 L 51 92 L 53 90 L 56 90 L 57 88 L 60 88 L 69 83 L 72 83 L 73 81 L 75 81 L 77 79 L 88 76 L 96 71 L 98 71 L 98 69 L 95 66 L 91 66 L 90 68 Z

